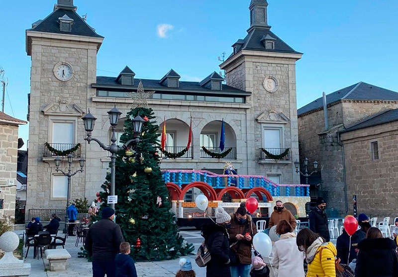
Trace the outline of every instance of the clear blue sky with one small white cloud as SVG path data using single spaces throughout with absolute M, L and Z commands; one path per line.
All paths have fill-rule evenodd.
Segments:
M 57 0 L 2 0 L 0 67 L 8 80 L 4 112 L 26 120 L 30 57 L 25 30 Z M 105 37 L 97 76 L 127 65 L 135 78 L 160 79 L 171 68 L 181 81 L 219 72 L 221 53 L 249 28 L 250 0 L 74 0 Z M 271 31 L 303 53 L 297 62 L 297 105 L 360 81 L 398 92 L 397 0 L 268 0 Z M 28 125 L 19 136 L 26 149 Z

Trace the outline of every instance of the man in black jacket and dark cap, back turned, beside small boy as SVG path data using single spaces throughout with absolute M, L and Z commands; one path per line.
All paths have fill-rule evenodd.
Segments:
M 119 225 L 113 222 L 112 208 L 102 209 L 102 219 L 90 226 L 86 236 L 86 249 L 93 256 L 93 277 L 115 277 L 115 257 L 124 242 Z

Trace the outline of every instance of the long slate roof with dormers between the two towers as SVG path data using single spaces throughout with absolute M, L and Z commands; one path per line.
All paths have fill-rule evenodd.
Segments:
M 211 76 L 211 75 L 210 75 Z M 210 90 L 206 87 L 202 87 L 199 85 L 199 82 L 187 82 L 187 81 L 180 81 L 180 87 L 179 88 L 167 88 L 163 86 L 162 84 L 159 84 L 160 80 L 153 80 L 153 79 L 136 79 L 136 80 L 141 80 L 142 85 L 144 86 L 146 91 L 156 91 L 156 92 L 161 92 L 161 91 L 168 91 L 170 92 L 171 90 L 173 92 L 186 92 L 186 91 L 192 91 L 192 92 L 197 92 L 200 94 L 233 94 L 233 95 L 242 95 L 242 96 L 247 96 L 251 95 L 251 92 L 245 92 L 239 89 L 235 89 L 233 87 L 227 86 L 222 84 L 222 91 L 215 91 L 215 90 Z M 120 90 L 136 90 L 138 87 L 138 82 L 134 82 L 136 85 L 131 86 L 127 88 L 126 86 L 122 86 L 119 83 L 116 82 L 115 77 L 104 77 L 104 76 L 97 76 L 97 83 L 93 84 L 93 88 L 107 88 L 107 89 L 115 89 L 117 90 L 120 88 Z M 131 89 L 130 89 L 131 88 Z

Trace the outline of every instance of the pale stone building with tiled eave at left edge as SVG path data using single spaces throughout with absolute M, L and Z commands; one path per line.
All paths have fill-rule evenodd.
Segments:
M 15 215 L 18 126 L 26 123 L 0 111 L 0 217 Z

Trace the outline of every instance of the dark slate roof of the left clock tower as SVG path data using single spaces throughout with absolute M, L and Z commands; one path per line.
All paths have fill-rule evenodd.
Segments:
M 64 15 L 72 18 L 72 31 L 63 32 L 59 28 L 58 18 Z M 35 27 L 28 29 L 28 31 L 45 32 L 45 33 L 56 33 L 56 34 L 69 34 L 69 35 L 79 35 L 79 36 L 90 36 L 90 37 L 103 37 L 95 32 L 95 30 L 90 27 L 83 18 L 76 13 L 74 10 L 59 8 L 54 10 L 50 15 L 44 18 Z

